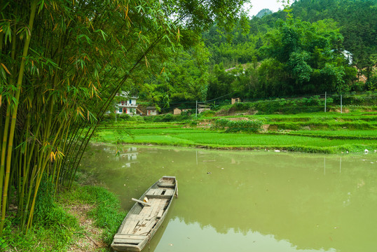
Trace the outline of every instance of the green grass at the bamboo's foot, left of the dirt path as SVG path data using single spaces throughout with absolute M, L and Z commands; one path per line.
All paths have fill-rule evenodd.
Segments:
M 15 211 L 6 218 L 5 242 L 0 245 L 5 251 L 67 251 L 75 235 L 83 232 L 76 218 L 55 200 L 52 185 L 46 179 L 41 182 L 34 223 L 27 235 L 20 231 L 20 222 Z

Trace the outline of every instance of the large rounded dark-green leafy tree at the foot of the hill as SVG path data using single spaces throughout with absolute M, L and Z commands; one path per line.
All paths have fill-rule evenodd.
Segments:
M 280 62 L 285 78 L 280 78 L 280 95 L 334 91 L 343 88 L 345 68 L 341 55 L 342 36 L 332 20 L 310 24 L 288 18 L 278 22 L 266 37 L 263 50 L 267 57 Z M 276 64 L 263 65 L 276 67 Z

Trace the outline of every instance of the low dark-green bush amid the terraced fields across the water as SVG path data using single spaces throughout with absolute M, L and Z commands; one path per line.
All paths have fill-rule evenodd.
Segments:
M 214 127 L 218 129 L 227 129 L 229 132 L 257 132 L 261 129 L 263 123 L 260 120 L 227 120 L 217 119 L 214 121 Z

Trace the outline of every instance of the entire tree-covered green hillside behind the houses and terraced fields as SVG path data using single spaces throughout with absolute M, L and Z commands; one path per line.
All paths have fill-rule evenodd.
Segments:
M 168 108 L 377 90 L 377 0 L 301 0 L 269 13 L 241 19 L 230 32 L 215 25 L 204 43 L 176 48 L 163 71 L 144 79 L 140 98 Z

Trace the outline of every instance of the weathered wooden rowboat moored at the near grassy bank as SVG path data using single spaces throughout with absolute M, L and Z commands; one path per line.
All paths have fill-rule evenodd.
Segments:
M 115 251 L 142 251 L 163 223 L 174 195 L 178 195 L 174 176 L 163 176 L 130 209 L 114 235 Z M 144 200 L 146 202 L 144 202 Z

